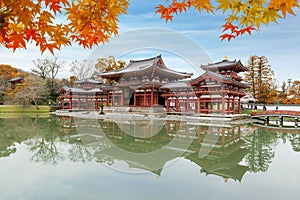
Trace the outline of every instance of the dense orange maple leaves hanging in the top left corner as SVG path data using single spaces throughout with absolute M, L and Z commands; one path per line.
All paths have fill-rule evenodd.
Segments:
M 77 42 L 91 48 L 118 33 L 128 0 L 0 0 L 0 44 L 16 50 L 34 42 L 40 51 Z

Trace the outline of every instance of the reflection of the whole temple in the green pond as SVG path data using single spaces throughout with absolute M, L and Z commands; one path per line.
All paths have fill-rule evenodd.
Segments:
M 70 125 L 70 120 L 65 121 Z M 77 125 L 83 126 L 84 123 L 80 121 Z M 245 142 L 240 125 L 208 126 L 181 121 L 142 120 L 103 120 L 98 122 L 97 127 L 86 125 L 92 130 L 98 129 L 98 132 L 100 128 L 97 141 L 105 140 L 107 144 L 94 152 L 100 163 L 113 165 L 123 162 L 129 169 L 160 175 L 167 163 L 183 157 L 197 164 L 201 173 L 217 175 L 225 181 L 241 181 L 248 171 L 248 167 L 240 164 L 248 153 L 243 148 Z M 92 138 L 89 141 L 93 143 Z

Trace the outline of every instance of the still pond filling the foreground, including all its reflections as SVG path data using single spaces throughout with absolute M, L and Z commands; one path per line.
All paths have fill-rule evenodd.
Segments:
M 300 131 L 0 119 L 0 199 L 299 199 Z

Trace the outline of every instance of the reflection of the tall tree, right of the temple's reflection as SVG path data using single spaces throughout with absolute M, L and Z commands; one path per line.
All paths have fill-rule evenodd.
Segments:
M 249 170 L 252 172 L 267 171 L 275 156 L 271 145 L 277 142 L 277 134 L 257 129 L 245 140 L 245 146 L 250 151 L 245 157 Z

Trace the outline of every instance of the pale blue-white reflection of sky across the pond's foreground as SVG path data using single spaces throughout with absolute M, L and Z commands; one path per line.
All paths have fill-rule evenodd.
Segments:
M 297 199 L 300 156 L 289 141 L 278 141 L 268 170 L 247 172 L 242 183 L 206 176 L 184 158 L 160 177 L 122 173 L 94 161 L 47 165 L 30 161 L 28 146 L 20 144 L 15 154 L 0 159 L 1 199 Z

